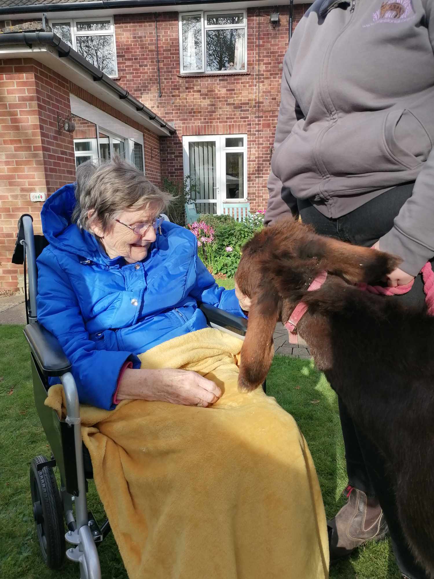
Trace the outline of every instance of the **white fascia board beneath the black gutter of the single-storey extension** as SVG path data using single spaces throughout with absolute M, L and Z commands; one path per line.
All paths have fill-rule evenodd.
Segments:
M 51 46 L 41 45 L 35 49 L 30 49 L 24 46 L 8 46 L 0 50 L 0 58 L 34 58 L 39 63 L 45 64 L 46 67 L 58 72 L 65 79 L 71 80 L 80 89 L 86 90 L 95 97 L 111 105 L 116 111 L 124 113 L 128 118 L 135 120 L 146 129 L 159 135 L 160 137 L 168 137 L 170 133 L 164 127 L 160 127 L 160 123 L 155 120 L 147 119 L 146 116 L 138 111 L 129 102 L 119 98 L 119 95 L 113 93 L 101 82 L 93 80 L 89 72 L 83 71 L 79 65 L 73 63 L 69 58 L 59 58 L 57 50 Z

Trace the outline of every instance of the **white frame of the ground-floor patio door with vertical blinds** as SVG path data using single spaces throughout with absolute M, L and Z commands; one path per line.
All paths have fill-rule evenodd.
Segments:
M 243 146 L 227 147 L 227 138 L 242 138 L 244 139 Z M 189 145 L 190 142 L 216 142 L 216 199 L 199 200 L 197 203 L 216 204 L 216 214 L 221 215 L 223 212 L 223 203 L 242 203 L 248 201 L 247 190 L 247 134 L 225 134 L 225 135 L 184 135 L 182 137 L 183 149 L 183 168 L 184 177 L 190 176 L 190 160 L 189 160 Z M 244 196 L 238 199 L 226 198 L 226 153 L 244 153 Z M 193 200 L 194 201 L 194 200 Z

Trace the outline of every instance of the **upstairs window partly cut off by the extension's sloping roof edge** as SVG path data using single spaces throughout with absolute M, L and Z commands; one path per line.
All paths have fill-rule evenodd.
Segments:
M 107 76 L 117 76 L 115 27 L 111 16 L 101 19 L 53 20 L 50 25 L 54 34 L 83 58 Z

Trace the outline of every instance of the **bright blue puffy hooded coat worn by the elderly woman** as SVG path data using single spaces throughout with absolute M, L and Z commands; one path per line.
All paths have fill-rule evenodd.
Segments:
M 72 364 L 80 402 L 112 409 L 126 360 L 205 328 L 197 302 L 242 316 L 234 290 L 219 288 L 197 256 L 196 237 L 164 222 L 144 261 L 110 259 L 90 233 L 71 223 L 74 186 L 44 203 L 42 228 L 50 242 L 38 258 L 38 321 Z M 58 380 L 56 380 L 57 382 Z

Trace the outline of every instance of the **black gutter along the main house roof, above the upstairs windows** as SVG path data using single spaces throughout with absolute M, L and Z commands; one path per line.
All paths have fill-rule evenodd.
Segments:
M 224 0 L 207 0 L 207 4 L 219 4 Z M 239 3 L 244 0 L 231 0 Z M 95 10 L 105 8 L 157 8 L 161 6 L 185 6 L 203 4 L 203 0 L 97 0 L 95 2 L 65 2 L 61 4 L 33 4 L 0 8 L 1 14 L 28 14 L 33 12 L 69 12 L 69 10 Z

